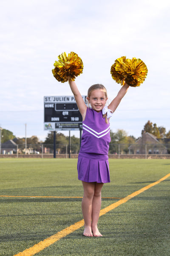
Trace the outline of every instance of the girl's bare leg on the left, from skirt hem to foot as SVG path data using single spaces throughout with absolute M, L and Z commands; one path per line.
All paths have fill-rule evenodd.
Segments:
M 83 235 L 84 236 L 93 236 L 91 230 L 91 215 L 92 215 L 92 204 L 93 204 L 93 197 L 94 197 L 94 189 L 95 183 L 94 182 L 84 182 L 82 181 L 84 194 L 82 198 L 82 215 L 85 221 L 85 230 Z

